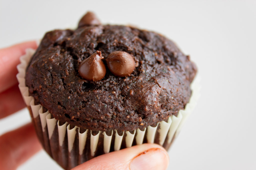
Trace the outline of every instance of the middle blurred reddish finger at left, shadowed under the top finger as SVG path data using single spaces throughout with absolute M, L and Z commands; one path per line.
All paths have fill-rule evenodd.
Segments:
M 0 119 L 26 107 L 17 84 L 0 94 L 0 103 Z

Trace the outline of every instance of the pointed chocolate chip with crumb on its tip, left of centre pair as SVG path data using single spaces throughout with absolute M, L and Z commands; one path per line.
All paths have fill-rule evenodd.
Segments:
M 101 80 L 106 74 L 106 67 L 101 60 L 103 58 L 101 51 L 97 51 L 84 59 L 78 68 L 79 75 L 88 81 Z

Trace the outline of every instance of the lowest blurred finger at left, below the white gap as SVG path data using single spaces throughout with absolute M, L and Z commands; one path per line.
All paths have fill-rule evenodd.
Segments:
M 16 169 L 41 149 L 32 123 L 0 136 L 0 169 Z

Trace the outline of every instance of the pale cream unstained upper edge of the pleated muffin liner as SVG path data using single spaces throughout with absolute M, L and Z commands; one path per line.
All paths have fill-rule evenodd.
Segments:
M 136 145 L 141 145 L 142 143 L 145 143 L 145 140 L 144 140 L 145 134 L 146 134 L 146 142 L 154 143 L 154 141 L 156 140 L 156 132 L 158 132 L 159 134 L 158 135 L 159 145 L 163 145 L 165 141 L 167 141 L 167 144 L 169 144 L 170 142 L 172 142 L 172 139 L 175 136 L 177 136 L 178 133 L 180 132 L 180 129 L 182 128 L 184 122 L 190 115 L 191 111 L 196 106 L 196 102 L 199 98 L 200 86 L 199 86 L 199 79 L 197 78 L 191 83 L 192 93 L 191 93 L 189 103 L 186 104 L 185 109 L 180 110 L 177 117 L 174 115 L 170 116 L 167 122 L 165 121 L 158 122 L 157 126 L 155 127 L 148 126 L 147 128 L 144 128 L 143 131 L 140 129 L 134 130 L 133 133 L 126 131 L 126 132 L 123 132 L 121 136 L 118 134 L 117 130 L 114 130 L 114 132 L 112 130 L 110 136 L 108 136 L 105 132 L 101 132 L 101 131 L 99 131 L 97 135 L 93 135 L 92 132 L 88 129 L 85 132 L 80 133 L 79 129 L 76 130 L 78 128 L 77 126 L 74 128 L 70 128 L 70 125 L 67 122 L 63 125 L 59 125 L 59 121 L 55 120 L 54 118 L 51 118 L 51 114 L 48 111 L 43 113 L 43 109 L 40 104 L 34 105 L 34 99 L 33 97 L 29 96 L 28 87 L 26 87 L 25 85 L 25 70 L 31 56 L 34 53 L 35 53 L 34 49 L 26 49 L 26 54 L 20 57 L 21 63 L 17 66 L 17 69 L 18 69 L 17 79 L 19 82 L 20 92 L 22 93 L 22 96 L 27 106 L 31 107 L 31 111 L 34 118 L 36 118 L 38 115 L 40 116 L 42 132 L 45 132 L 45 130 L 47 129 L 49 139 L 51 139 L 57 124 L 59 146 L 61 147 L 65 140 L 65 135 L 67 131 L 69 152 L 71 152 L 72 148 L 74 147 L 76 133 L 78 133 L 78 138 L 79 138 L 78 147 L 79 147 L 80 155 L 82 155 L 83 150 L 85 149 L 85 145 L 87 143 L 86 139 L 88 135 L 90 135 L 91 156 L 95 155 L 100 134 L 103 134 L 104 136 L 104 142 L 103 142 L 104 153 L 110 152 L 111 141 L 113 138 L 114 138 L 114 151 L 120 150 L 124 136 L 125 136 L 126 147 L 131 147 L 133 145 L 134 140 Z M 49 140 L 49 139 L 44 139 L 44 140 Z

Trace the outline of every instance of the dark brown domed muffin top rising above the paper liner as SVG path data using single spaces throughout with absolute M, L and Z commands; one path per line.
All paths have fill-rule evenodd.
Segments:
M 197 70 L 189 56 L 160 34 L 101 25 L 88 14 L 76 30 L 50 31 L 42 39 L 26 71 L 35 103 L 60 122 L 93 131 L 142 129 L 177 116 L 189 101 Z M 124 52 L 134 70 L 129 65 L 132 72 L 122 76 L 126 66 L 112 68 L 109 61 L 111 53 Z M 91 56 L 100 62 L 93 67 L 105 68 L 99 78 L 91 65 L 84 66 L 89 76 L 98 76 L 94 80 L 79 72 Z

